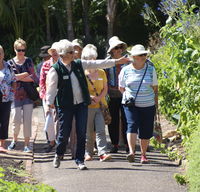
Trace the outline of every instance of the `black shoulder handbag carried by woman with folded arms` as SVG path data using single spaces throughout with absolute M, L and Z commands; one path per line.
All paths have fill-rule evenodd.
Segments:
M 12 62 L 15 65 L 17 73 L 19 73 L 14 59 L 12 59 Z M 27 66 L 25 66 L 25 67 L 26 67 L 26 70 L 28 71 Z M 37 85 L 34 82 L 23 82 L 23 81 L 21 81 L 20 84 L 24 88 L 24 90 L 26 91 L 26 94 L 27 94 L 29 99 L 31 99 L 32 101 L 36 101 L 36 100 L 39 99 L 39 92 L 37 91 Z

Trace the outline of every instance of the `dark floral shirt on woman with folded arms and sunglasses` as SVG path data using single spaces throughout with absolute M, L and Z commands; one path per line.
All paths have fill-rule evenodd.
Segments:
M 34 64 L 31 58 L 26 57 L 25 62 L 22 65 L 14 63 L 14 60 L 11 59 L 8 63 L 12 66 L 15 74 L 28 72 L 30 77 L 34 80 L 35 83 L 38 83 L 38 78 L 35 74 Z M 33 101 L 28 98 L 26 91 L 21 85 L 20 81 L 17 81 L 17 89 L 15 92 L 15 99 L 12 107 L 21 107 L 25 104 L 32 104 Z

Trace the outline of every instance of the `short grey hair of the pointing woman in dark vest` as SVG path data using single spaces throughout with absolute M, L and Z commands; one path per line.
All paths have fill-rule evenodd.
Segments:
M 59 41 L 58 48 L 56 50 L 60 56 L 65 56 L 68 52 L 74 51 L 74 46 L 69 40 L 62 39 Z

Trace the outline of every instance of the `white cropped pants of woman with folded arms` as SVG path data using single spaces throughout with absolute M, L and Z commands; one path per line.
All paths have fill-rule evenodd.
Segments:
M 12 108 L 12 129 L 15 135 L 19 135 L 21 121 L 23 119 L 23 133 L 24 137 L 31 137 L 32 135 L 32 113 L 33 104 L 23 105 L 22 107 Z

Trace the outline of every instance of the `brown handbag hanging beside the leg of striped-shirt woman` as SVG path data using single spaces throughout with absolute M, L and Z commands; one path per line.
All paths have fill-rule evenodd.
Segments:
M 153 136 L 158 143 L 162 143 L 162 128 L 158 109 L 156 109 L 156 114 L 154 117 Z

